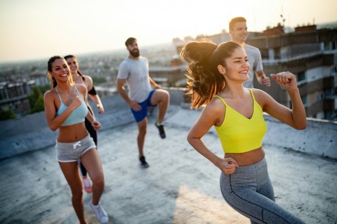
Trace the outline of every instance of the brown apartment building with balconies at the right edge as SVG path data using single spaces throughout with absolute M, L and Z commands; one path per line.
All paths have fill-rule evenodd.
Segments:
M 262 36 L 248 38 L 247 43 L 260 49 L 267 75 L 280 71 L 296 75 L 307 117 L 337 119 L 337 29 L 304 25 L 284 33 L 278 25 L 264 30 Z M 264 87 L 254 80 L 254 87 L 291 108 L 288 94 L 275 82 Z

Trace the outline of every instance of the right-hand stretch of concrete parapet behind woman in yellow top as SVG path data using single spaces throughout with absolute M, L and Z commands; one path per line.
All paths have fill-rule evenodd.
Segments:
M 181 109 L 165 121 L 173 126 L 191 128 L 201 110 Z M 296 130 L 289 125 L 264 114 L 268 129 L 263 144 L 337 159 L 337 122 L 307 118 L 305 130 Z M 214 134 L 214 126 L 209 132 Z

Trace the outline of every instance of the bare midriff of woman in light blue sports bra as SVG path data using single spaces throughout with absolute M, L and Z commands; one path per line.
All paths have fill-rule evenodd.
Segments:
M 89 134 L 84 122 L 76 123 L 69 126 L 59 127 L 57 141 L 59 142 L 75 142 L 81 140 Z

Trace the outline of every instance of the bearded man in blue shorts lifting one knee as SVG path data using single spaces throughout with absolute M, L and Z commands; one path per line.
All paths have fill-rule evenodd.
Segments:
M 161 89 L 148 73 L 148 60 L 140 55 L 137 39 L 130 37 L 125 41 L 129 56 L 119 65 L 117 74 L 117 91 L 122 98 L 129 104 L 131 112 L 137 122 L 138 136 L 137 144 L 139 150 L 139 160 L 142 167 L 148 167 L 143 153 L 147 129 L 147 106 L 158 105 L 158 116 L 154 125 L 159 130 L 161 138 L 166 134 L 163 126 L 163 119 L 170 104 L 170 94 Z M 127 83 L 128 93 L 124 88 Z

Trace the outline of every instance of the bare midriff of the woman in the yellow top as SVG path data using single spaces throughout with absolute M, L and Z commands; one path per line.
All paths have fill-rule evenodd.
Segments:
M 251 165 L 260 161 L 264 157 L 264 150 L 261 147 L 243 153 L 226 153 L 225 158 L 234 158 L 238 165 Z

